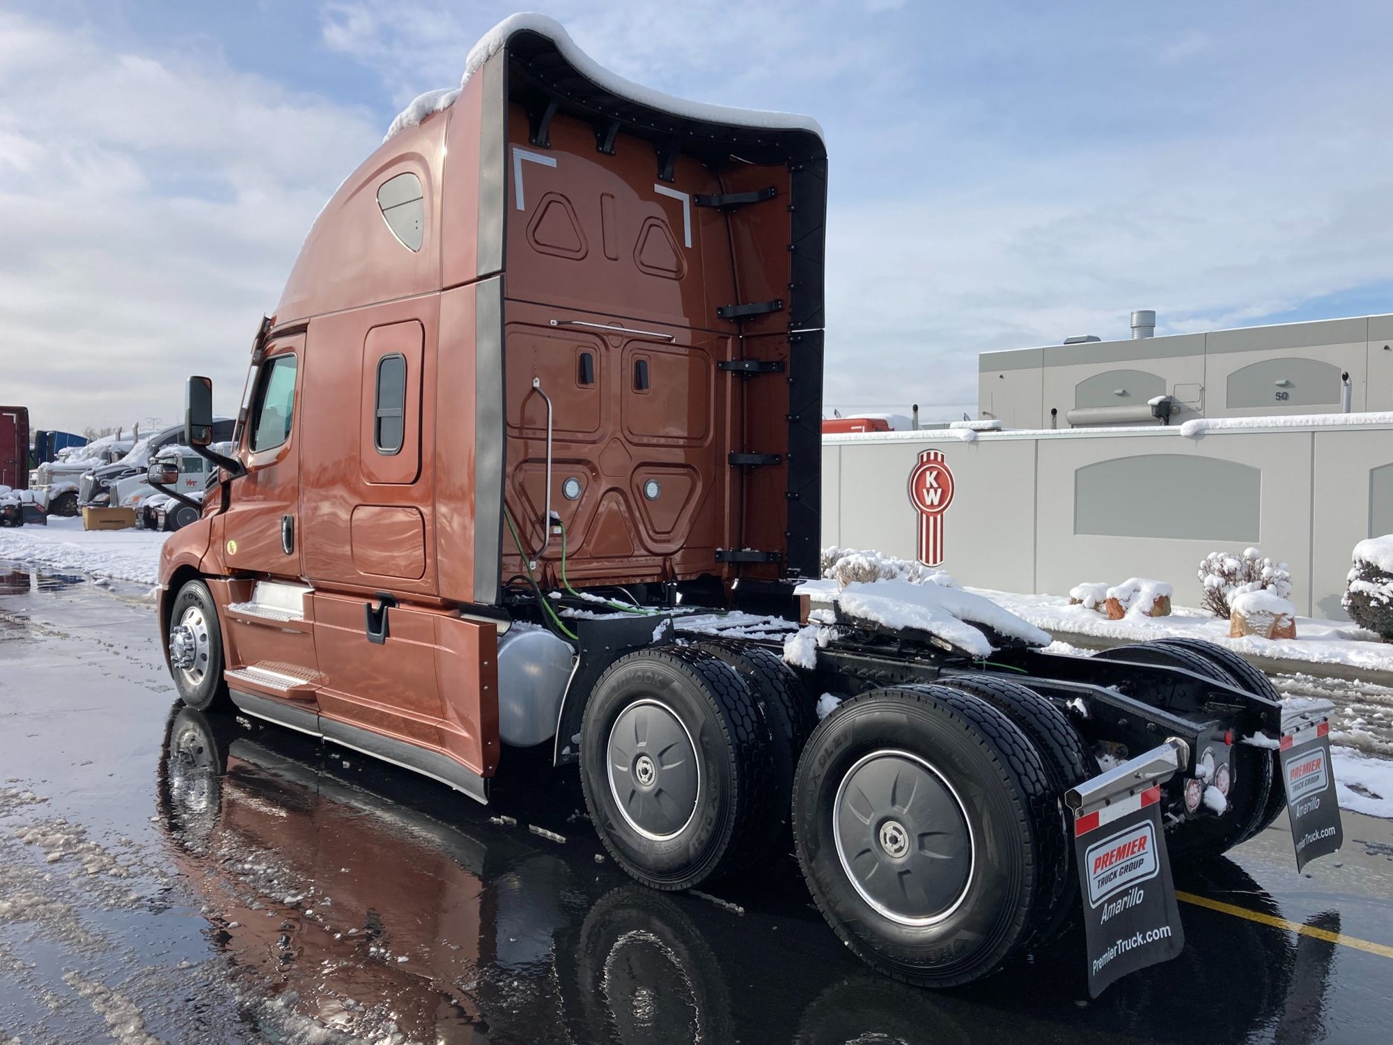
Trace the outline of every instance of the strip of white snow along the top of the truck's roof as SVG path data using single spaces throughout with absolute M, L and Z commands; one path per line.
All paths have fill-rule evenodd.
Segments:
M 809 116 L 770 113 L 758 109 L 731 109 L 729 106 L 708 104 L 706 102 L 691 102 L 624 79 L 624 77 L 610 72 L 581 50 L 570 33 L 554 18 L 547 18 L 545 14 L 524 13 L 504 18 L 474 45 L 464 61 L 464 75 L 460 78 L 458 88 L 428 91 L 415 98 L 391 121 L 383 141 L 390 139 L 407 127 L 415 127 L 432 113 L 443 111 L 454 104 L 469 77 L 478 72 L 483 67 L 483 63 L 497 54 L 513 36 L 521 32 L 536 33 L 550 40 L 556 53 L 570 64 L 574 72 L 589 81 L 592 88 L 598 88 L 600 92 L 612 95 L 616 99 L 667 113 L 683 120 L 770 131 L 807 131 L 816 135 L 819 141 L 822 139 L 822 127 Z

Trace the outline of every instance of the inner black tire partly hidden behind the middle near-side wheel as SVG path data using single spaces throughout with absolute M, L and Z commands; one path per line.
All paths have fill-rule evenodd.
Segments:
M 812 702 L 798 676 L 779 656 L 749 642 L 701 642 L 698 649 L 719 656 L 744 677 L 755 694 L 773 759 L 773 786 L 777 796 L 777 823 L 769 835 L 770 850 L 791 851 L 793 844 L 793 775 L 798 755 L 808 743 L 816 722 Z

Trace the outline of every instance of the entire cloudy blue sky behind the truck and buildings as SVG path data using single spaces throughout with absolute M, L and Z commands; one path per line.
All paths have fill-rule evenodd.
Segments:
M 511 4 L 0 0 L 0 401 L 231 408 L 304 233 Z M 832 156 L 829 410 L 972 410 L 976 355 L 1393 311 L 1393 4 L 684 0 L 540 10 Z

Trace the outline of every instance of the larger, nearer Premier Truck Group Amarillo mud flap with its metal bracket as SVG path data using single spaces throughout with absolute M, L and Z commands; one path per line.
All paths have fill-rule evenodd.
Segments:
M 1188 745 L 1172 738 L 1066 796 L 1074 811 L 1092 998 L 1184 947 L 1160 822 L 1160 786 L 1188 761 Z

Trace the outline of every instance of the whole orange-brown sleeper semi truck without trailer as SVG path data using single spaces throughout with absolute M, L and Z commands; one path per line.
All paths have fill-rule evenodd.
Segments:
M 826 170 L 812 120 L 500 24 L 315 222 L 231 456 L 189 379 L 185 442 L 223 471 L 162 556 L 176 686 L 479 801 L 550 744 L 634 878 L 791 844 L 910 982 L 1082 911 L 1102 989 L 1178 952 L 1166 846 L 1270 823 L 1318 715 L 1202 642 L 1053 656 L 965 592 L 887 612 L 818 580 Z M 1133 915 L 1165 931 L 1109 956 Z

